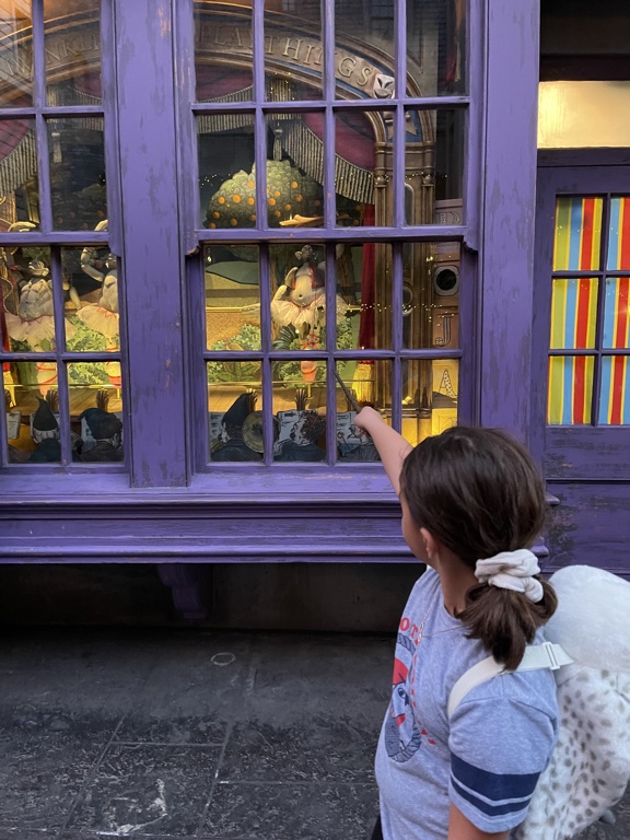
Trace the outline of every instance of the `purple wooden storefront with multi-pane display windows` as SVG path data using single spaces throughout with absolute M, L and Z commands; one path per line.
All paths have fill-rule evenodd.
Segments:
M 353 397 L 511 430 L 546 569 L 630 575 L 630 18 L 540 5 L 0 1 L 0 563 L 386 590 Z

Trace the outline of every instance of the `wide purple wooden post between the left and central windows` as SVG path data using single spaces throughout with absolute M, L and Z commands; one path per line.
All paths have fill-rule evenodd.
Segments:
M 131 480 L 187 481 L 168 0 L 116 2 Z

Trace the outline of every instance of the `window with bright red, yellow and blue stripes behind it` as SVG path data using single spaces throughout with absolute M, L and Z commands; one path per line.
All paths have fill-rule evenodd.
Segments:
M 557 198 L 547 402 L 550 424 L 629 422 L 629 207 L 627 196 Z M 568 272 L 570 277 L 563 276 Z

